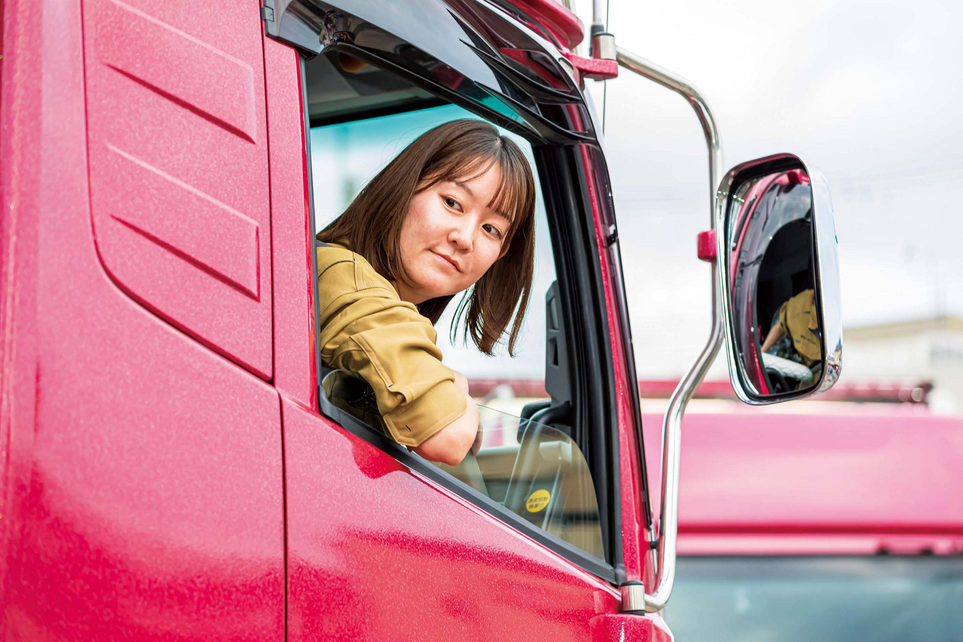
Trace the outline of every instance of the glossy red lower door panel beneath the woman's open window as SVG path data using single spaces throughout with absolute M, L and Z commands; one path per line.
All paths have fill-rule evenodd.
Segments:
M 282 411 L 290 642 L 584 641 L 617 610 L 601 579 L 285 398 Z

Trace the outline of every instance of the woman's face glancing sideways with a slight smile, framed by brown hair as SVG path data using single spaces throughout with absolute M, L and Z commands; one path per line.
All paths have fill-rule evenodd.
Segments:
M 455 295 L 505 254 L 510 221 L 487 206 L 501 178 L 496 163 L 477 176 L 441 181 L 415 194 L 401 231 L 410 283 L 395 283 L 403 300 L 417 304 Z

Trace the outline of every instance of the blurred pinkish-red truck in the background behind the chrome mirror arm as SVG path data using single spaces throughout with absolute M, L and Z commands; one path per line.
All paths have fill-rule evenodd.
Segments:
M 963 420 L 872 406 L 686 415 L 678 639 L 963 637 Z

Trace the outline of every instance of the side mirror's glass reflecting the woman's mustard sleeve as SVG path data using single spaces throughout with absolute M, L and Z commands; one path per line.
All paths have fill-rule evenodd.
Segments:
M 758 396 L 808 391 L 822 374 L 812 203 L 802 169 L 750 178 L 729 201 L 730 313 L 743 380 Z

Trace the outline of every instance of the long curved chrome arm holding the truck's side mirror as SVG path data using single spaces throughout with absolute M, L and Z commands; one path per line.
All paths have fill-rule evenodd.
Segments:
M 719 141 L 716 119 L 702 94 L 689 81 L 667 69 L 639 58 L 622 47 L 616 47 L 615 60 L 622 67 L 648 78 L 663 87 L 682 95 L 695 111 L 709 148 L 709 226 L 716 229 L 716 190 L 718 173 L 722 167 L 722 143 Z M 716 359 L 722 345 L 722 316 L 718 295 L 718 260 L 712 264 L 713 325 L 706 347 L 692 364 L 689 372 L 682 378 L 669 399 L 663 421 L 663 475 L 662 507 L 659 511 L 658 548 L 653 551 L 656 564 L 656 589 L 652 594 L 645 592 L 641 584 L 627 584 L 621 587 L 623 611 L 661 611 L 668 602 L 675 582 L 675 547 L 679 526 L 679 450 L 682 442 L 682 416 L 686 406 L 702 383 L 706 372 Z

